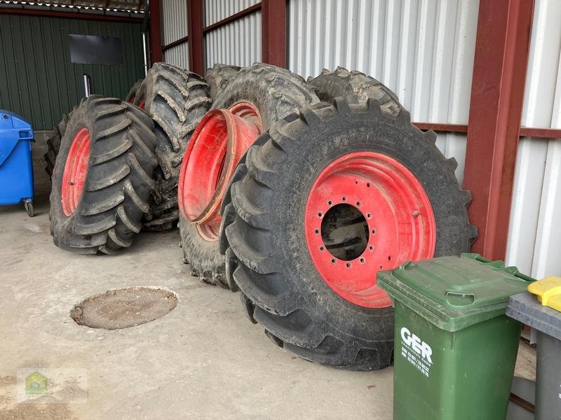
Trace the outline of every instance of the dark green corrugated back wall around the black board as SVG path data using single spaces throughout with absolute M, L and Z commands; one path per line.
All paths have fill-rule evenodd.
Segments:
M 0 109 L 50 130 L 83 96 L 83 73 L 92 92 L 124 98 L 144 76 L 140 23 L 0 14 Z M 68 34 L 117 36 L 123 66 L 72 64 Z

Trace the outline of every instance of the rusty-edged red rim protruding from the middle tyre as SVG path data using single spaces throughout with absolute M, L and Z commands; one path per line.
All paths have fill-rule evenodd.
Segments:
M 191 136 L 180 172 L 179 207 L 203 239 L 218 239 L 220 205 L 231 176 L 261 132 L 255 106 L 238 102 L 208 111 Z

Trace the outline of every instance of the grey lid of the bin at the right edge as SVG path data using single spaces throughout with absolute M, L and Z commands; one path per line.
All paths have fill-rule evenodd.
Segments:
M 544 334 L 561 340 L 561 312 L 543 306 L 529 292 L 511 296 L 508 300 L 506 314 Z

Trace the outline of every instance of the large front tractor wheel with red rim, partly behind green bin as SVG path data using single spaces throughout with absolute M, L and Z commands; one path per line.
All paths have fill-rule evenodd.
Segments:
M 391 365 L 393 309 L 376 273 L 469 250 L 477 230 L 456 165 L 434 132 L 372 99 L 304 107 L 275 125 L 223 203 L 227 279 L 252 322 L 306 360 Z

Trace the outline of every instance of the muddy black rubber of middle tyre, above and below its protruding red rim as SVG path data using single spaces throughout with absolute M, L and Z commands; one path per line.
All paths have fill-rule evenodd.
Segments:
M 313 87 L 295 73 L 270 64 L 257 63 L 240 70 L 238 76 L 217 94 L 212 109 L 227 109 L 237 102 L 250 102 L 259 112 L 266 132 L 278 120 L 306 104 L 319 102 Z M 184 262 L 201 281 L 228 288 L 224 256 L 218 241 L 207 241 L 195 225 L 180 216 L 180 237 Z

